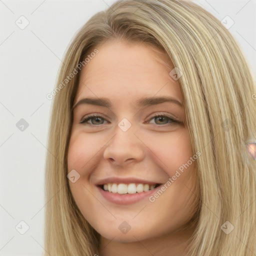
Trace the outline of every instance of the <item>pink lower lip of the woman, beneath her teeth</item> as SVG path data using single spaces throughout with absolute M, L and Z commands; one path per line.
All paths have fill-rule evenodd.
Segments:
M 149 197 L 151 194 L 155 193 L 155 191 L 158 190 L 160 186 L 161 185 L 159 185 L 151 190 L 143 191 L 140 193 L 134 193 L 134 194 L 128 194 L 128 193 L 118 194 L 118 193 L 112 193 L 112 192 L 105 191 L 102 188 L 100 188 L 99 186 L 97 186 L 97 188 L 99 189 L 99 191 L 103 195 L 103 197 L 105 199 L 107 199 L 108 201 L 116 203 L 116 204 L 126 205 L 126 204 L 138 202 L 138 201 L 144 199 L 145 197 Z

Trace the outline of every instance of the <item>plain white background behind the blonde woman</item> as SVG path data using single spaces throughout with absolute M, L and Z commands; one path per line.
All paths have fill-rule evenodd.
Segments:
M 229 28 L 256 73 L 256 0 L 194 0 Z M 51 92 L 76 31 L 112 0 L 0 0 L 0 256 L 42 255 L 44 161 Z M 23 15 L 29 24 L 20 29 Z M 19 21 L 21 22 L 21 21 Z M 24 20 L 23 20 L 24 24 Z M 255 78 L 254 78 L 255 79 Z M 25 119 L 20 131 L 16 123 Z M 20 234 L 15 226 L 25 221 Z M 18 225 L 19 230 L 25 225 Z M 17 228 L 18 229 L 18 228 Z

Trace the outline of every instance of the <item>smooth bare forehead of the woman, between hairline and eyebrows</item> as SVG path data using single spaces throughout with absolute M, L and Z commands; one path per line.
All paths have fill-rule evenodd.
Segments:
M 98 53 L 82 67 L 76 100 L 82 96 L 171 95 L 182 101 L 170 60 L 160 50 L 137 42 L 110 40 L 91 48 Z M 87 52 L 90 54 L 90 51 Z

